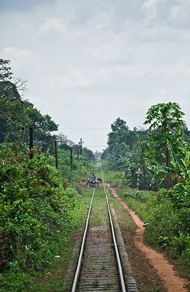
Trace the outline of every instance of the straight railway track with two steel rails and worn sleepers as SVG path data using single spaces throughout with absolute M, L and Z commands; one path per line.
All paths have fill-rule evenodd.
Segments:
M 93 210 L 93 199 L 97 191 L 93 189 L 72 288 L 66 290 L 71 292 L 138 292 L 119 225 L 115 224 L 114 230 L 101 164 L 100 170 L 107 210 L 102 214 L 101 224 L 94 226 L 90 223 L 90 215 L 95 216 L 96 213 Z

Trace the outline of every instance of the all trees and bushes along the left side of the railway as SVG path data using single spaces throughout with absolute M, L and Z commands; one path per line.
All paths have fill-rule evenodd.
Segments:
M 0 291 L 23 292 L 67 250 L 70 232 L 80 226 L 84 206 L 77 181 L 86 180 L 94 155 L 87 148 L 80 155 L 63 133 L 52 135 L 58 125 L 22 100 L 8 66 L 0 59 Z M 36 127 L 30 150 L 29 126 Z

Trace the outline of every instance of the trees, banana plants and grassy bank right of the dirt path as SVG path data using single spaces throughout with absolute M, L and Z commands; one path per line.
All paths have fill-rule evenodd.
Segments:
M 112 186 L 139 216 L 148 221 L 146 240 L 169 252 L 186 271 L 190 268 L 190 132 L 176 103 L 152 106 L 144 124 L 149 130 L 130 131 L 118 118 L 108 134 L 108 148 L 102 155 L 112 170 Z M 136 139 L 134 134 L 136 134 Z M 117 151 L 118 152 L 117 152 Z M 136 171 L 143 176 L 144 192 L 122 189 L 137 187 Z

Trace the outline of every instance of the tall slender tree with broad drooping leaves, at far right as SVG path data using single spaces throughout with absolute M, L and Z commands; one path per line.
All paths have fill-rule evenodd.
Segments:
M 159 153 L 164 153 L 165 166 L 171 167 L 169 150 L 167 141 L 171 142 L 176 140 L 176 133 L 180 127 L 185 127 L 185 122 L 181 119 L 184 112 L 177 103 L 161 103 L 152 106 L 146 116 L 144 124 L 150 124 L 150 141 L 151 149 L 159 149 Z M 156 131 L 152 132 L 152 129 Z M 161 155 L 161 154 L 160 154 Z M 166 188 L 172 187 L 172 178 L 168 176 L 165 179 Z

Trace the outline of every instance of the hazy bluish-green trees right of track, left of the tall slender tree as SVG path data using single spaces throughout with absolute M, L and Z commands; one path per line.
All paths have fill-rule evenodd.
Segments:
M 125 172 L 125 185 L 137 186 L 137 167 L 140 166 L 143 174 L 149 174 L 145 163 L 142 160 L 142 148 L 140 140 L 147 137 L 147 131 L 134 128 L 129 130 L 126 122 L 120 118 L 111 125 L 112 132 L 108 133 L 108 148 L 104 150 L 102 159 L 106 159 L 112 169 Z M 147 183 L 140 183 L 141 188 L 147 188 Z

